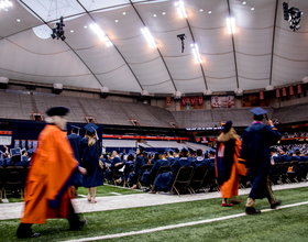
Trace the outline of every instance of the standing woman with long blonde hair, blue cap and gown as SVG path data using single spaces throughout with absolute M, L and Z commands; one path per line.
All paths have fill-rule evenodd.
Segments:
M 86 135 L 81 140 L 81 164 L 87 167 L 87 175 L 84 176 L 82 185 L 88 188 L 88 201 L 96 204 L 96 189 L 102 186 L 102 169 L 99 166 L 100 144 L 97 139 L 97 125 L 88 123 L 86 127 Z

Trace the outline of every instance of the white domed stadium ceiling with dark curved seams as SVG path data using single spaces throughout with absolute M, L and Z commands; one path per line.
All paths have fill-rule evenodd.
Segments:
M 288 1 L 305 13 L 296 32 L 284 20 L 283 0 L 184 0 L 187 18 L 176 2 L 12 1 L 0 9 L 0 77 L 111 91 L 210 94 L 287 86 L 308 74 L 307 0 Z M 51 37 L 61 16 L 65 41 Z M 234 33 L 227 28 L 230 16 Z M 95 23 L 106 37 L 90 28 Z

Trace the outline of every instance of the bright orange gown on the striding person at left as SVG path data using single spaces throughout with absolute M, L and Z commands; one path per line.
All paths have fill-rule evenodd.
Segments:
M 78 166 L 64 132 L 47 124 L 38 136 L 25 184 L 22 223 L 45 223 L 50 218 L 67 218 L 73 174 Z

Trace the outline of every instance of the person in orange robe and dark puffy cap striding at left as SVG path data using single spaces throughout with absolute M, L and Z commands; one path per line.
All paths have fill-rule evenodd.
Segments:
M 67 218 L 70 229 L 79 229 L 86 220 L 80 220 L 70 202 L 68 188 L 75 174 L 86 174 L 78 167 L 72 146 L 63 130 L 66 129 L 68 109 L 54 107 L 46 111 L 48 123 L 38 136 L 38 146 L 32 157 L 25 184 L 25 207 L 16 231 L 19 238 L 38 237 L 33 233 L 33 223 L 43 224 L 46 219 Z

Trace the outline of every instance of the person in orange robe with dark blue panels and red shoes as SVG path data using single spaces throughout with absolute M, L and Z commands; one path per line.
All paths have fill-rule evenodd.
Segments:
M 232 207 L 241 201 L 233 197 L 239 193 L 239 168 L 238 160 L 241 151 L 241 141 L 232 128 L 232 121 L 228 121 L 222 128 L 222 133 L 217 142 L 216 172 L 222 196 L 222 207 Z M 232 200 L 229 200 L 233 198 Z

